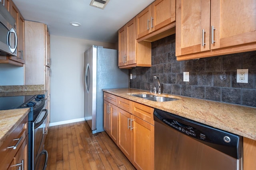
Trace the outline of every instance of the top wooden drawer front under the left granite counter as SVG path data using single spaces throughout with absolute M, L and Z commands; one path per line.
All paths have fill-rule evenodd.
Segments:
M 6 170 L 28 134 L 28 116 L 14 129 L 0 146 L 0 170 Z M 20 139 L 20 140 L 14 140 Z M 16 148 L 14 149 L 14 146 Z M 12 148 L 8 148 L 12 147 Z

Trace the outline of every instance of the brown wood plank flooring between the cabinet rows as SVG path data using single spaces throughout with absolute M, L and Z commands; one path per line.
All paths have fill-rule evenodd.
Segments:
M 136 170 L 106 132 L 86 121 L 52 126 L 46 137 L 47 170 Z

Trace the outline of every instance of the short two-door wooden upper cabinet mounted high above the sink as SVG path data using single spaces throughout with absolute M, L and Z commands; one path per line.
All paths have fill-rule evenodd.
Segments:
M 175 0 L 156 0 L 136 16 L 136 39 L 175 21 Z

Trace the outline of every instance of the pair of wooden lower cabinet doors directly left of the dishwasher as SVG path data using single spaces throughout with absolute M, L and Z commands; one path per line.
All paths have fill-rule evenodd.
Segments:
M 118 108 L 118 147 L 137 169 L 154 169 L 154 126 Z

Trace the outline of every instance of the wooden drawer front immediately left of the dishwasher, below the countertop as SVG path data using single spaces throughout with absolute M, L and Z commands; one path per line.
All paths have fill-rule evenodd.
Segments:
M 132 114 L 154 125 L 154 108 L 132 102 Z

